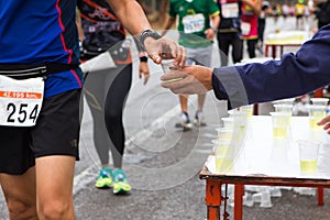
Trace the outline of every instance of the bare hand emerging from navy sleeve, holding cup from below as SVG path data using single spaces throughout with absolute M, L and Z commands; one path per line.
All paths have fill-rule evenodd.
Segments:
M 206 94 L 212 89 L 212 69 L 205 66 L 186 66 L 161 77 L 162 86 L 174 94 Z

